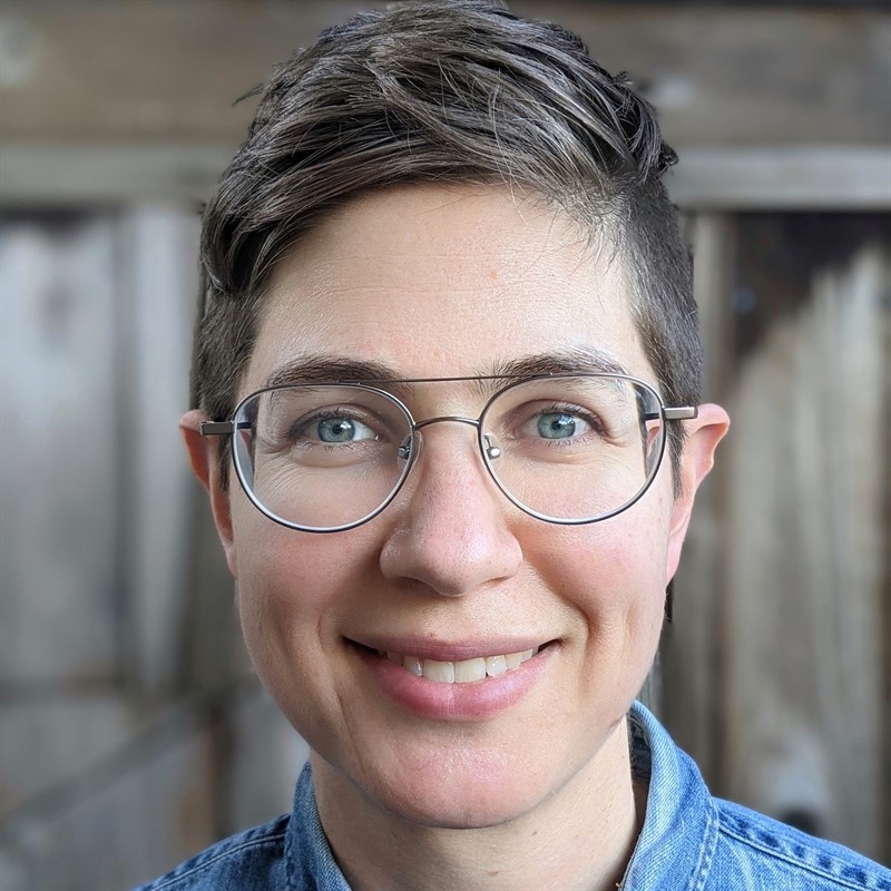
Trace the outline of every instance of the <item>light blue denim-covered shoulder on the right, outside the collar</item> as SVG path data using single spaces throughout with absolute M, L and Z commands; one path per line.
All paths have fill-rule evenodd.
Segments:
M 707 887 L 764 891 L 891 891 L 891 872 L 738 804 L 714 800 L 717 840 Z

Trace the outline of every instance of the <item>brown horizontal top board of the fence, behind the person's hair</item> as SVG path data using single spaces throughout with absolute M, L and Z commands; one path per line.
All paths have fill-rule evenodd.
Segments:
M 233 101 L 322 28 L 383 2 L 7 0 L 0 137 L 21 141 L 243 139 Z M 885 10 L 513 0 L 628 70 L 687 145 L 887 145 Z

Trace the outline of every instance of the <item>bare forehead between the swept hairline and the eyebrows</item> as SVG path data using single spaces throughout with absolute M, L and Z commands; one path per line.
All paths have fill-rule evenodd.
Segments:
M 363 196 L 276 266 L 244 390 L 306 355 L 438 378 L 596 352 L 652 376 L 619 255 L 601 235 L 507 188 Z

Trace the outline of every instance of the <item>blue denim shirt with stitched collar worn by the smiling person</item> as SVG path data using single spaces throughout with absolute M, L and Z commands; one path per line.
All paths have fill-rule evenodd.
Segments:
M 891 891 L 891 872 L 878 863 L 713 799 L 639 703 L 629 727 L 634 770 L 649 793 L 620 891 Z M 140 891 L 350 891 L 322 830 L 309 764 L 291 814 L 208 848 Z

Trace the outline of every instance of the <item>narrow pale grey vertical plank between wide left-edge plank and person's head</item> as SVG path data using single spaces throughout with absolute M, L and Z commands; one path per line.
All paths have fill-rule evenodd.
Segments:
M 157 695 L 176 686 L 183 668 L 192 489 L 178 422 L 188 405 L 198 219 L 177 207 L 140 205 L 123 215 L 120 238 L 127 667 L 144 694 Z

